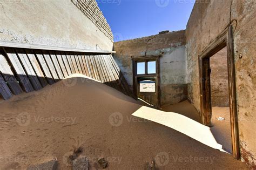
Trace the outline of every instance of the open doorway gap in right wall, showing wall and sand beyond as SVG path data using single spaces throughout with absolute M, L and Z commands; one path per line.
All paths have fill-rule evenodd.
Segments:
M 230 102 L 228 93 L 227 47 L 210 57 L 211 131 L 223 149 L 232 154 Z

